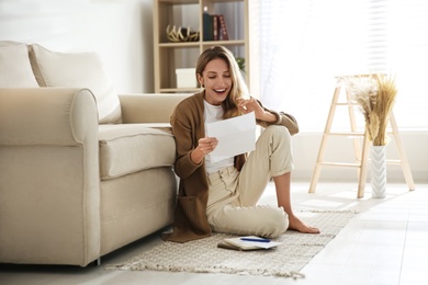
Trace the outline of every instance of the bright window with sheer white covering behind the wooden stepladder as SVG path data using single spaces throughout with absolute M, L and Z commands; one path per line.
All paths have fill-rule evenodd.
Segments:
M 428 1 L 259 0 L 260 98 L 324 129 L 335 76 L 392 72 L 401 128 L 428 129 Z M 336 122 L 337 123 L 337 122 Z M 338 122 L 338 127 L 348 127 Z

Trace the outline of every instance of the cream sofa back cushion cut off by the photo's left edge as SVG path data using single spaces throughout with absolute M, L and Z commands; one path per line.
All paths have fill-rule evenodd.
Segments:
M 16 42 L 0 42 L 0 88 L 37 88 L 29 48 Z

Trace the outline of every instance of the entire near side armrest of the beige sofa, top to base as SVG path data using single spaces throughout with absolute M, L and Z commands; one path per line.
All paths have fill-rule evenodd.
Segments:
M 98 112 L 86 89 L 0 89 L 0 262 L 100 256 Z

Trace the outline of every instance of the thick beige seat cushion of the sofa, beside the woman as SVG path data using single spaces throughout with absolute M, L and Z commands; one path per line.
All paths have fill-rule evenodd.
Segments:
M 145 124 L 100 125 L 99 141 L 101 180 L 172 167 L 176 161 L 172 134 Z

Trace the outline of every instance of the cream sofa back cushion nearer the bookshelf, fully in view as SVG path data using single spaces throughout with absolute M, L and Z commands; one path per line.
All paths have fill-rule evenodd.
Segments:
M 41 87 L 88 88 L 97 99 L 100 124 L 121 122 L 121 105 L 95 53 L 64 54 L 30 46 L 30 59 Z

